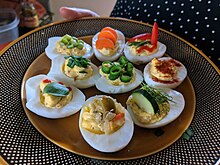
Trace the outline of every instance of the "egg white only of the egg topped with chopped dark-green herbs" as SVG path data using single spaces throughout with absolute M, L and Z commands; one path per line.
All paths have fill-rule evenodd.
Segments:
M 50 77 L 54 77 L 58 81 L 65 82 L 69 85 L 74 85 L 77 88 L 89 88 L 95 85 L 97 79 L 100 78 L 99 68 L 91 63 L 93 68 L 93 75 L 84 80 L 74 80 L 71 77 L 66 76 L 62 71 L 62 66 L 65 62 L 64 56 L 58 56 L 52 59 L 52 64 L 49 73 L 47 74 Z

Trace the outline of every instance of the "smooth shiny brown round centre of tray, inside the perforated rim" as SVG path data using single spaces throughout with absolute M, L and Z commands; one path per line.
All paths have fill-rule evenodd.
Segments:
M 92 37 L 93 36 L 83 36 L 80 38 L 91 44 Z M 91 61 L 97 66 L 101 65 L 101 62 L 98 61 L 94 56 L 92 57 Z M 182 114 L 174 122 L 162 127 L 164 134 L 161 136 L 156 136 L 156 129 L 144 129 L 135 126 L 133 138 L 124 149 L 115 153 L 99 152 L 90 147 L 86 141 L 84 141 L 78 126 L 79 112 L 62 119 L 48 119 L 40 117 L 26 108 L 26 80 L 38 74 L 47 74 L 50 69 L 50 65 L 50 59 L 45 53 L 42 53 L 29 66 L 22 81 L 22 105 L 28 119 L 44 137 L 70 152 L 102 160 L 128 160 L 145 157 L 159 152 L 173 144 L 181 137 L 193 119 L 196 98 L 194 88 L 189 77 L 187 77 L 184 82 L 176 88 L 176 90 L 181 92 L 185 98 L 185 108 Z M 135 67 L 143 71 L 144 65 Z M 82 91 L 86 95 L 86 99 L 96 94 L 102 94 L 102 92 L 98 91 L 95 87 L 83 89 Z M 130 94 L 131 92 L 110 96 L 116 98 L 118 102 L 126 107 L 126 100 Z

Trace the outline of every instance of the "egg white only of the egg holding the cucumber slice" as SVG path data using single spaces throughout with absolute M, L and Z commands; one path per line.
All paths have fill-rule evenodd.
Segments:
M 185 99 L 184 99 L 183 95 L 175 90 L 168 89 L 168 88 L 167 89 L 164 88 L 162 90 L 173 98 L 173 102 L 169 101 L 170 111 L 167 114 L 167 116 L 165 116 L 162 120 L 160 120 L 156 123 L 143 124 L 136 119 L 136 117 L 134 116 L 134 114 L 131 110 L 131 107 L 129 105 L 127 105 L 127 110 L 129 111 L 129 113 L 130 113 L 130 115 L 136 125 L 138 125 L 140 127 L 144 127 L 144 128 L 162 127 L 162 126 L 165 126 L 165 125 L 171 123 L 172 121 L 174 121 L 182 113 L 182 111 L 184 110 L 184 107 L 185 107 Z M 129 99 L 131 97 L 132 96 L 129 96 Z

